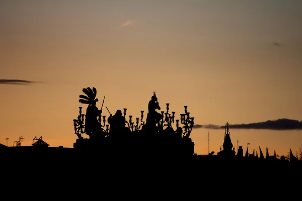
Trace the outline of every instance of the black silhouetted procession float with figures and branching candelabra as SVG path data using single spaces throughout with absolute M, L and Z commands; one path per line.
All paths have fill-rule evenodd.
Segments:
M 118 110 L 115 115 L 106 119 L 102 116 L 102 108 L 96 106 L 96 88 L 84 88 L 85 95 L 80 95 L 79 102 L 87 104 L 86 114 L 79 107 L 79 116 L 73 120 L 74 133 L 78 139 L 73 144 L 75 151 L 93 152 L 103 156 L 140 156 L 140 157 L 190 157 L 194 154 L 194 143 L 190 133 L 194 127 L 194 117 L 190 117 L 187 106 L 180 120 L 175 118 L 175 112 L 170 113 L 169 104 L 166 111 L 160 110 L 159 102 L 154 94 L 148 104 L 146 121 L 144 111 L 140 118 L 129 115 L 126 121 L 127 109 Z M 174 123 L 176 129 L 173 128 Z M 89 138 L 84 138 L 88 135 Z

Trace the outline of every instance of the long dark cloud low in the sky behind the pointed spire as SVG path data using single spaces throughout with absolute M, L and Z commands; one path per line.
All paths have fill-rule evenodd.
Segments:
M 194 125 L 195 129 L 224 129 L 224 126 L 213 124 L 208 125 Z M 302 130 L 302 121 L 290 119 L 268 120 L 266 122 L 250 123 L 250 124 L 230 124 L 231 129 L 267 129 L 267 130 Z

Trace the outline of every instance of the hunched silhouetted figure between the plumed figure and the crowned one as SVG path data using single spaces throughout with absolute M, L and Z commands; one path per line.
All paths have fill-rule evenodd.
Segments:
M 117 110 L 115 115 L 113 116 L 112 114 L 110 114 L 108 123 L 110 124 L 109 133 L 113 134 L 114 136 L 120 135 L 125 132 L 126 119 L 124 116 L 122 116 L 121 110 Z

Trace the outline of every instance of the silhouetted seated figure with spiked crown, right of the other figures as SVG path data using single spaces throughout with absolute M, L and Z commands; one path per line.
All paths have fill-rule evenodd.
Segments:
M 146 123 L 150 124 L 152 126 L 160 125 L 160 121 L 163 118 L 162 114 L 156 112 L 156 110 L 161 110 L 161 107 L 158 102 L 158 98 L 156 96 L 156 93 L 154 91 L 153 96 L 151 97 L 151 100 L 148 104 L 148 114 Z

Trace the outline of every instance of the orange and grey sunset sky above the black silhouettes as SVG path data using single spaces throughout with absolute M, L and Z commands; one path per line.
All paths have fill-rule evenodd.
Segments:
M 139 117 L 156 91 L 197 125 L 302 120 L 302 1 L 0 1 L 0 143 L 72 147 L 79 95 Z M 12 80 L 30 81 L 20 84 Z M 128 118 L 127 118 L 128 119 Z M 223 129 L 196 128 L 215 154 Z M 233 145 L 287 155 L 302 130 L 230 129 Z M 84 136 L 88 137 L 88 136 Z M 237 148 L 236 148 L 237 149 Z

